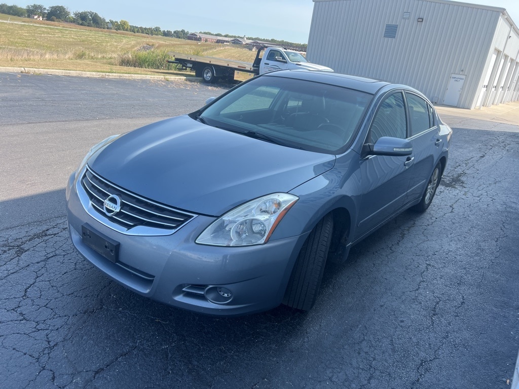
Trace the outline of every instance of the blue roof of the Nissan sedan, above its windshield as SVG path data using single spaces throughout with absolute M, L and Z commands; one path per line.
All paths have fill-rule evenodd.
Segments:
M 323 84 L 336 85 L 339 87 L 355 89 L 375 94 L 380 88 L 391 85 L 389 82 L 374 80 L 371 78 L 350 76 L 347 74 L 332 72 L 317 72 L 307 70 L 282 70 L 266 73 L 266 77 L 296 78 L 307 81 L 322 82 Z

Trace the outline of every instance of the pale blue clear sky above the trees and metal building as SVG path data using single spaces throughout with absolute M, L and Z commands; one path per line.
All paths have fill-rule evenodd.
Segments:
M 265 39 L 307 43 L 312 18 L 312 0 L 2 0 L 9 5 L 44 7 L 62 5 L 75 11 L 97 12 L 106 20 L 126 20 L 142 27 L 162 30 L 208 31 Z M 385 1 L 385 0 L 379 0 Z M 506 8 L 519 26 L 518 0 L 472 0 L 466 3 Z

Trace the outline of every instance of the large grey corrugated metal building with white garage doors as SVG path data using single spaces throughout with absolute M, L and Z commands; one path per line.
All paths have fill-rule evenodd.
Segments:
M 313 0 L 307 57 L 407 84 L 433 103 L 519 99 L 519 30 L 506 9 L 446 0 Z

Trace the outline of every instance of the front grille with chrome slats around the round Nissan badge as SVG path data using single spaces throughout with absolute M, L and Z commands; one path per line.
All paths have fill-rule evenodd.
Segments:
M 175 230 L 194 216 L 119 188 L 95 174 L 88 166 L 81 178 L 81 186 L 97 212 L 127 229 L 146 226 Z M 104 202 L 110 196 L 117 196 L 121 200 L 120 210 L 113 215 L 104 212 Z

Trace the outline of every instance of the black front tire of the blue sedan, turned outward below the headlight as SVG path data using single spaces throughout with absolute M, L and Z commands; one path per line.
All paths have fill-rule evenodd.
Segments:
M 308 235 L 297 257 L 283 304 L 308 311 L 317 300 L 333 232 L 331 214 L 323 217 Z

